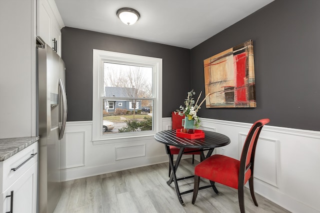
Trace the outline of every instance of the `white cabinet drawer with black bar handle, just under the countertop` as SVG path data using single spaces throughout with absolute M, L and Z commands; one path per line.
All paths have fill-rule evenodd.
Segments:
M 37 145 L 38 143 L 35 142 L 3 161 L 2 192 L 37 162 L 38 155 L 35 154 L 38 152 Z

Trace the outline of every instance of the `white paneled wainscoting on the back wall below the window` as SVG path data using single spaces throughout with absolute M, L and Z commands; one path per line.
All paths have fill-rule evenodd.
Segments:
M 91 121 L 67 122 L 63 140 L 62 181 L 168 161 L 163 144 L 153 135 L 92 143 Z

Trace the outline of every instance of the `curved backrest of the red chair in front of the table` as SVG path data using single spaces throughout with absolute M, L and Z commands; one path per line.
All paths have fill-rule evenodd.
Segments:
M 256 121 L 252 126 L 251 129 L 246 136 L 241 158 L 240 158 L 240 168 L 239 168 L 239 182 L 240 180 L 244 180 L 244 174 L 245 172 L 250 169 L 251 175 L 253 175 L 253 164 L 254 164 L 254 155 L 255 155 L 255 148 L 256 143 L 258 141 L 259 134 L 261 132 L 262 127 L 269 123 L 269 119 L 261 119 Z

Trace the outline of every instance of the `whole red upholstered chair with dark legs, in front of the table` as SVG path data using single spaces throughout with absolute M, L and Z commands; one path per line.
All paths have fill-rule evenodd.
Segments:
M 200 177 L 202 177 L 210 180 L 212 188 L 217 194 L 218 191 L 214 186 L 214 182 L 237 189 L 241 213 L 245 212 L 244 185 L 249 181 L 253 203 L 255 206 L 258 206 L 253 189 L 254 154 L 260 131 L 267 123 L 269 123 L 269 119 L 266 118 L 258 120 L 252 125 L 245 139 L 240 161 L 224 155 L 212 155 L 195 166 L 192 204 L 195 203 Z

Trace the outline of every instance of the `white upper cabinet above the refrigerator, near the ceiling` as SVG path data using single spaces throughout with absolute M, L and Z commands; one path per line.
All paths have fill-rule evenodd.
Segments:
M 61 31 L 64 26 L 54 0 L 37 0 L 36 34 L 61 56 Z

